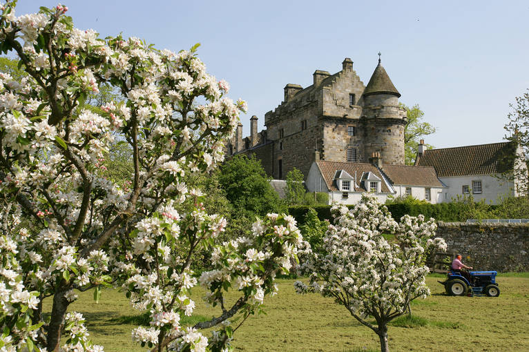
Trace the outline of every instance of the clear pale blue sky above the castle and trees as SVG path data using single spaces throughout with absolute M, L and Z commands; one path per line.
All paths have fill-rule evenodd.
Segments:
M 528 1 L 64 1 L 75 26 L 198 51 L 247 100 L 249 118 L 345 57 L 367 84 L 378 51 L 401 101 L 419 104 L 437 148 L 501 141 L 509 103 L 529 88 Z M 19 0 L 17 15 L 58 1 Z

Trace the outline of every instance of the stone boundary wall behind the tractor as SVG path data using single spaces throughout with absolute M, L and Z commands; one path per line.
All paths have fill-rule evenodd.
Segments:
M 438 222 L 447 253 L 459 253 L 474 270 L 529 271 L 529 224 Z M 470 259 L 468 258 L 470 257 Z

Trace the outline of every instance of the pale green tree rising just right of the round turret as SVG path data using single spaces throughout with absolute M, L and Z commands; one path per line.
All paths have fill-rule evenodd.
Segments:
M 431 135 L 435 132 L 435 127 L 430 123 L 422 121 L 424 117 L 423 110 L 419 108 L 419 104 L 415 104 L 409 108 L 403 103 L 400 103 L 401 108 L 406 109 L 407 122 L 404 126 L 404 157 L 406 165 L 413 165 L 415 157 L 417 156 L 417 146 L 420 139 L 426 135 Z M 430 144 L 425 144 L 427 149 L 434 148 Z

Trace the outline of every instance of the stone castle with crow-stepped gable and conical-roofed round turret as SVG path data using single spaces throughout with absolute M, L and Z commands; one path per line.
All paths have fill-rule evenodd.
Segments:
M 404 164 L 406 111 L 398 106 L 396 90 L 378 59 L 364 86 L 345 58 L 342 70 L 331 75 L 316 70 L 313 84 L 285 86 L 285 99 L 264 115 L 266 130 L 242 138 L 242 125 L 228 144 L 228 155 L 253 154 L 274 179 L 285 179 L 296 167 L 307 176 L 319 157 L 332 162 L 369 162 L 379 153 L 384 164 Z M 314 153 L 314 152 L 318 153 Z

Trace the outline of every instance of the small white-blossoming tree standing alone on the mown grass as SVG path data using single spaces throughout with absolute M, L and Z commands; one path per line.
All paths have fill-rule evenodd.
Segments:
M 350 211 L 338 205 L 332 211 L 334 225 L 329 226 L 319 254 L 312 253 L 304 264 L 311 273 L 310 285 L 296 282 L 296 290 L 334 297 L 378 335 L 381 351 L 389 351 L 387 323 L 403 315 L 412 300 L 430 294 L 425 253 L 445 249 L 446 244 L 439 237 L 432 239 L 434 219 L 405 215 L 398 224 L 369 195 Z

